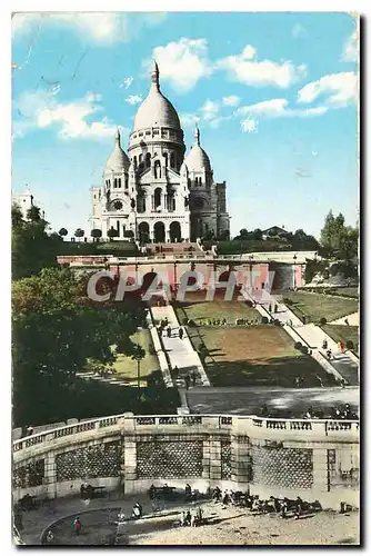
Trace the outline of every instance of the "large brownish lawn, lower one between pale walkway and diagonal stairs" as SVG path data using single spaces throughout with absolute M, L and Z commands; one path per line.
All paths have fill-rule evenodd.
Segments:
M 277 386 L 292 388 L 335 384 L 332 375 L 310 356 L 294 349 L 290 336 L 272 325 L 229 328 L 188 328 L 193 346 L 203 342 L 205 371 L 212 386 Z

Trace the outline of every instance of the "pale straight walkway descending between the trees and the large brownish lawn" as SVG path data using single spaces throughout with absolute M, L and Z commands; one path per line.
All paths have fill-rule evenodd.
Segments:
M 164 307 L 152 307 L 152 317 L 157 321 L 168 319 L 171 326 L 171 336 L 167 336 L 164 330 L 161 337 L 161 342 L 163 349 L 168 355 L 170 367 L 179 369 L 179 378 L 176 379 L 176 385 L 178 387 L 186 387 L 186 376 L 194 371 L 197 376 L 197 386 L 210 386 L 210 381 L 204 373 L 203 366 L 201 364 L 200 357 L 197 351 L 194 351 L 193 346 L 187 335 L 186 327 L 183 329 L 183 338 L 179 337 L 179 322 L 177 315 L 171 307 L 167 305 Z

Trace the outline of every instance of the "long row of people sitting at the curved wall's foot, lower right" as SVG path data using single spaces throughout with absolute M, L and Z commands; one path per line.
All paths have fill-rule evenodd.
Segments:
M 274 496 L 268 499 L 260 499 L 259 495 L 253 496 L 240 490 L 224 490 L 222 494 L 219 487 L 213 489 L 212 498 L 215 503 L 222 503 L 224 506 L 231 504 L 244 507 L 255 515 L 275 513 L 280 514 L 281 518 L 287 518 L 288 513 L 291 512 L 291 515 L 299 519 L 303 512 L 317 512 L 321 509 L 321 504 L 318 500 L 311 504 L 302 500 L 300 496 L 294 500 L 287 497 L 275 498 Z

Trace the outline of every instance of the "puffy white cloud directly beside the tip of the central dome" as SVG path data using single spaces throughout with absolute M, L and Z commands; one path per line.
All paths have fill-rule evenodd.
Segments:
M 182 38 L 152 50 L 152 58 L 158 62 L 160 79 L 168 81 L 178 92 L 188 92 L 198 81 L 210 76 L 212 69 L 208 60 L 205 39 Z M 150 66 L 150 60 L 143 64 Z

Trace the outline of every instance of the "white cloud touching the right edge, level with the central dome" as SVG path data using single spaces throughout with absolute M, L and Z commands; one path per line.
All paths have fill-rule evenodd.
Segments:
M 331 73 L 318 81 L 307 83 L 298 92 L 299 103 L 311 103 L 320 96 L 328 95 L 327 103 L 331 108 L 343 107 L 358 98 L 358 77 L 353 71 Z

